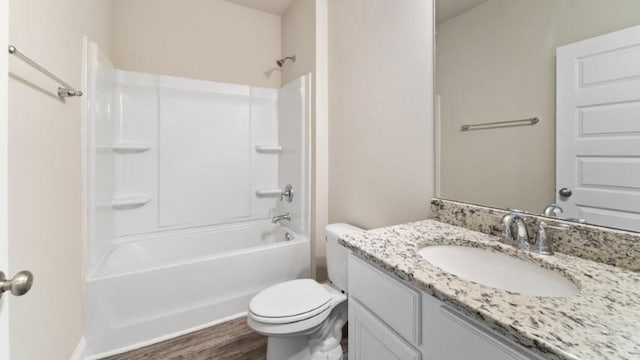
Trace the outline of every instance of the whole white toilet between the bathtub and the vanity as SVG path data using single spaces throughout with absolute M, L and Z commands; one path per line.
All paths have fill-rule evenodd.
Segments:
M 338 238 L 363 231 L 349 224 L 326 227 L 330 283 L 298 279 L 270 286 L 249 303 L 247 322 L 267 335 L 267 360 L 340 360 L 347 322 L 347 254 Z

